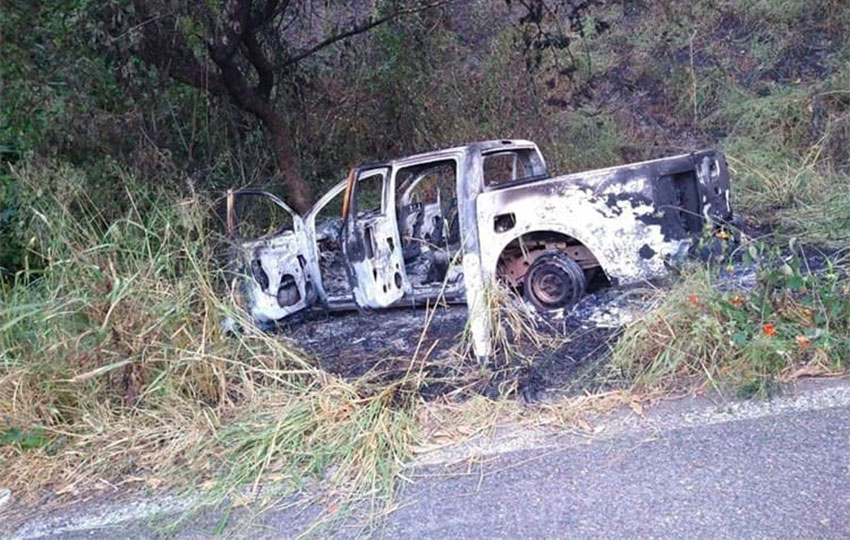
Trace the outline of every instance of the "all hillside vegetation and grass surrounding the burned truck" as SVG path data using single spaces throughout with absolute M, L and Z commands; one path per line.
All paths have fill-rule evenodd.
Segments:
M 346 5 L 315 9 L 345 22 Z M 217 212 L 232 186 L 287 199 L 279 158 L 233 100 L 144 61 L 136 16 L 0 10 L 0 488 L 218 496 L 334 465 L 339 492 L 385 493 L 427 370 L 345 381 L 251 329 Z M 177 22 L 203 54 L 203 28 Z M 764 394 L 850 362 L 845 1 L 448 2 L 322 49 L 271 95 L 317 195 L 354 163 L 478 139 L 535 140 L 555 172 L 719 147 L 758 285 L 741 298 L 701 267 L 661 292 L 614 351 L 622 388 Z

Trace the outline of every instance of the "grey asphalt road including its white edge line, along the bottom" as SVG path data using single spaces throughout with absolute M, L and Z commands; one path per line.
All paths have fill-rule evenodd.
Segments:
M 485 454 L 472 465 L 451 455 L 454 465 L 420 464 L 379 527 L 365 531 L 350 519 L 317 536 L 850 538 L 846 382 L 766 404 L 675 402 L 601 439 L 497 441 Z M 321 512 L 309 505 L 271 510 L 229 530 L 237 538 L 294 538 Z M 220 517 L 192 518 L 176 537 L 211 538 Z M 149 538 L 150 518 L 69 527 L 74 519 L 66 516 L 62 525 L 42 522 L 19 534 Z

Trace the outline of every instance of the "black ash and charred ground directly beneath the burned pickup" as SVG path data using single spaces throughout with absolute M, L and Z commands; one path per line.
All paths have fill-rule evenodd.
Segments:
M 537 325 L 557 343 L 520 343 L 521 359 L 497 358 L 482 366 L 464 339 L 467 308 L 326 313 L 314 311 L 279 328 L 326 371 L 346 379 L 389 383 L 411 372 L 425 373 L 426 399 L 477 392 L 515 392 L 528 400 L 586 390 L 607 366 L 611 342 L 649 307 L 650 289 L 603 288 L 587 294 L 565 313 Z

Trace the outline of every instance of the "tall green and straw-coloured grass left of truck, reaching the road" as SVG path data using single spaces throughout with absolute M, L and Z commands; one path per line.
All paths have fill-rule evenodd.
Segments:
M 0 469 L 16 499 L 204 481 L 223 497 L 330 465 L 340 492 L 386 493 L 415 389 L 345 382 L 253 330 L 217 268 L 208 199 L 123 178 L 125 213 L 107 220 L 81 171 L 16 174 L 30 264 L 0 290 Z

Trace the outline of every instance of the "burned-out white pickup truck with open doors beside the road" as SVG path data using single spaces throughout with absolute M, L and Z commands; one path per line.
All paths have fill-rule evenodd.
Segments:
M 252 199 L 269 211 L 249 215 Z M 265 224 L 249 232 L 249 218 Z M 479 357 L 492 353 L 488 289 L 497 281 L 538 311 L 563 310 L 591 280 L 664 274 L 707 226 L 731 218 L 720 152 L 552 177 L 522 140 L 361 165 L 304 216 L 261 190 L 227 197 L 241 291 L 257 322 L 313 305 L 466 302 Z

